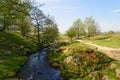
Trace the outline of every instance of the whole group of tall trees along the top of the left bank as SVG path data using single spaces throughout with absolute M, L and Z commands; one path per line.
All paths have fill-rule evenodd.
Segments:
M 54 43 L 59 33 L 57 24 L 42 12 L 41 6 L 31 0 L 0 0 L 0 31 L 19 32 L 23 37 L 34 36 L 38 48 Z

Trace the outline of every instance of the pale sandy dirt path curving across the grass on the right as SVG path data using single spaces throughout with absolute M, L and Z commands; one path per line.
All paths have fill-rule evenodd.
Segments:
M 110 58 L 113 58 L 115 60 L 120 61 L 120 48 L 116 49 L 116 48 L 104 47 L 104 46 L 96 45 L 96 44 L 93 44 L 93 43 L 90 43 L 90 42 L 85 42 L 85 41 L 82 41 L 82 40 L 77 40 L 77 41 L 79 41 L 82 44 L 93 46 L 93 47 L 97 48 L 98 51 L 106 54 Z

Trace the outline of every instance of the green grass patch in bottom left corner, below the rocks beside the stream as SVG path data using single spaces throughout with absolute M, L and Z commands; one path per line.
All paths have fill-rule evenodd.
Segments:
M 18 57 L 4 57 L 0 59 L 2 63 L 0 64 L 0 75 L 3 78 L 16 77 L 16 72 L 21 68 L 21 66 L 26 62 L 27 58 L 25 56 Z

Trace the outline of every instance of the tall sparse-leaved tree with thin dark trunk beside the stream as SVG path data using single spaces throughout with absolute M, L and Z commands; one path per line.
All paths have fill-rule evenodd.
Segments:
M 37 29 L 38 48 L 40 49 L 42 47 L 40 41 L 40 32 L 43 30 L 43 26 L 45 25 L 46 16 L 43 14 L 38 6 L 33 6 L 30 11 L 30 15 L 32 23 Z

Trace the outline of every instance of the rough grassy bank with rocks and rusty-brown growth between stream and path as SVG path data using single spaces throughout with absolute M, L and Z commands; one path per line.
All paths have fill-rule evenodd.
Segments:
M 90 46 L 75 42 L 48 53 L 50 65 L 59 68 L 65 80 L 117 79 L 115 70 L 120 63 Z

